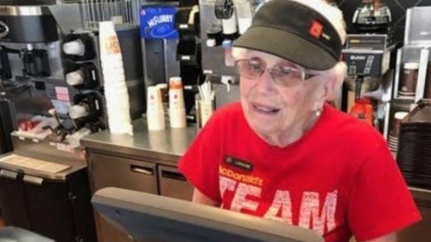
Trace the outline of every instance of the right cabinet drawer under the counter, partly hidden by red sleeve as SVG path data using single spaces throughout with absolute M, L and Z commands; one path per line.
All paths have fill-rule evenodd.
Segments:
M 186 177 L 184 177 L 178 169 L 170 166 L 158 166 L 160 195 L 179 198 L 183 200 L 192 200 L 193 186 Z

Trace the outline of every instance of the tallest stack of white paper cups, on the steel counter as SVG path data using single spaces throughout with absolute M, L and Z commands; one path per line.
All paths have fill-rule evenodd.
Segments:
M 99 23 L 99 44 L 109 130 L 111 133 L 132 135 L 129 94 L 120 43 L 112 22 Z

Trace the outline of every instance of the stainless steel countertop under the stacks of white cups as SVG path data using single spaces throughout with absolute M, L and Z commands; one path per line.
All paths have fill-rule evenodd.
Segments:
M 111 134 L 105 130 L 85 137 L 81 144 L 90 149 L 151 157 L 175 165 L 197 133 L 196 126 L 170 129 L 167 125 L 166 130 L 151 132 L 146 127 L 144 119 L 137 119 L 133 121 L 133 136 Z

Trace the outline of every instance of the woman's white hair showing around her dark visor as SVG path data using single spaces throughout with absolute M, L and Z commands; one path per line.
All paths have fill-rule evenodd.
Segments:
M 346 23 L 343 19 L 342 12 L 335 6 L 329 4 L 325 0 L 289 0 L 306 5 L 316 12 L 320 13 L 334 26 L 337 31 L 341 43 L 346 41 Z M 236 60 L 244 59 L 247 56 L 248 49 L 242 47 L 233 47 L 232 55 Z M 311 74 L 319 75 L 322 79 L 334 80 L 334 87 L 329 88 L 328 101 L 335 100 L 340 91 L 340 86 L 347 75 L 347 65 L 340 61 L 334 67 L 328 70 L 307 70 Z

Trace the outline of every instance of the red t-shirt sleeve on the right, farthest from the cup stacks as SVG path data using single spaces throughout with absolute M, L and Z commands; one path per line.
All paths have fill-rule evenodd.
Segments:
M 355 175 L 347 219 L 358 241 L 375 239 L 421 220 L 385 143 L 361 164 Z

